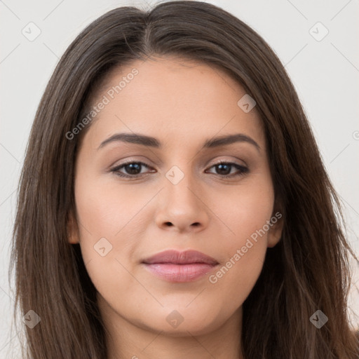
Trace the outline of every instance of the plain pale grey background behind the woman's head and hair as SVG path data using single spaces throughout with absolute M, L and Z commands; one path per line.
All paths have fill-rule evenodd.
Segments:
M 206 2 L 250 25 L 285 65 L 345 205 L 348 238 L 359 255 L 358 0 Z M 18 178 L 43 90 L 60 56 L 86 25 L 118 6 L 147 9 L 151 4 L 156 1 L 0 1 L 0 358 L 9 358 L 9 344 L 16 346 L 18 341 L 16 333 L 10 332 L 14 293 L 8 285 L 9 250 Z M 22 34 L 29 26 L 36 34 L 36 27 L 29 22 L 41 31 L 33 41 Z M 358 323 L 356 264 L 353 273 L 356 285 L 351 290 L 350 309 L 353 322 Z

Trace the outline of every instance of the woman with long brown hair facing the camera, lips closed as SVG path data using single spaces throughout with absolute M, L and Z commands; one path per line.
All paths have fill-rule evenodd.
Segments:
M 27 358 L 358 358 L 339 201 L 283 65 L 200 1 L 102 15 L 36 113 Z

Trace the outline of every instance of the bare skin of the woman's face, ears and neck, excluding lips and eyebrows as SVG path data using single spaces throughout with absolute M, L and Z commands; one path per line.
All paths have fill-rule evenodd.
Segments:
M 171 283 L 141 262 L 163 250 L 194 249 L 217 259 L 220 268 L 271 219 L 276 206 L 262 122 L 256 108 L 245 113 L 238 107 L 245 90 L 227 74 L 170 57 L 115 69 L 93 103 L 133 68 L 137 76 L 83 137 L 76 158 L 76 214 L 69 224 L 69 243 L 80 243 L 98 291 L 108 358 L 243 358 L 242 304 L 266 248 L 280 240 L 281 220 L 216 283 L 209 276 L 218 268 L 194 282 Z M 98 149 L 115 133 L 156 137 L 163 148 L 110 142 Z M 235 133 L 251 137 L 260 149 L 248 142 L 201 149 L 205 140 Z M 111 172 L 127 159 L 149 167 L 120 172 L 142 177 Z M 221 172 L 219 160 L 249 172 L 226 179 L 224 174 L 240 171 L 232 165 Z M 165 176 L 174 165 L 184 174 L 178 184 Z M 104 257 L 94 250 L 100 238 L 112 245 Z M 172 311 L 183 318 L 177 327 L 166 320 Z

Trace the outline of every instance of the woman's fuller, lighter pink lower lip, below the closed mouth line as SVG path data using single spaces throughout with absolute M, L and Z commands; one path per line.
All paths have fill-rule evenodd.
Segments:
M 170 282 L 191 282 L 210 272 L 215 266 L 206 263 L 172 264 L 154 263 L 144 264 L 148 271 Z

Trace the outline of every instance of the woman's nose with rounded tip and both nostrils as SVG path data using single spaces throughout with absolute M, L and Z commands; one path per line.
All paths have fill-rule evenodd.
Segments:
M 158 194 L 157 226 L 179 233 L 203 231 L 209 223 L 210 209 L 198 182 L 186 174 L 177 184 L 165 178 L 164 186 Z

